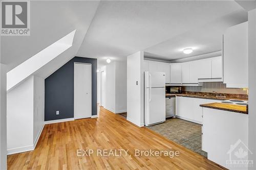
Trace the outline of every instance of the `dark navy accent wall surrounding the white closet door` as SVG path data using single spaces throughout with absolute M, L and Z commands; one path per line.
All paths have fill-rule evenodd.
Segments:
M 45 121 L 74 117 L 74 62 L 92 64 L 92 115 L 97 114 L 97 59 L 74 57 L 45 79 Z

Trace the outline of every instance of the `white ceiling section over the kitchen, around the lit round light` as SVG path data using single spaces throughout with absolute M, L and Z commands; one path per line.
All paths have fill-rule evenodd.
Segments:
M 189 30 L 167 41 L 146 48 L 147 58 L 176 60 L 222 50 L 222 35 L 231 26 L 247 21 L 244 10 L 211 21 L 206 25 Z M 183 49 L 192 47 L 193 52 L 184 54 Z

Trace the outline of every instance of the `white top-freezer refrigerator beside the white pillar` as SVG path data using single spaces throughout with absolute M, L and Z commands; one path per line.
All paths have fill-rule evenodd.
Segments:
M 151 126 L 165 121 L 165 73 L 144 73 L 144 122 Z

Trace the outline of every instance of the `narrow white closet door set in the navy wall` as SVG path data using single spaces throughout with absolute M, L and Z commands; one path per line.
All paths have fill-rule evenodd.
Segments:
M 92 65 L 74 63 L 74 118 L 92 116 Z

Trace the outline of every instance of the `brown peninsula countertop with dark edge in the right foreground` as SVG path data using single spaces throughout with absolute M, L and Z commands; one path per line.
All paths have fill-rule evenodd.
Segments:
M 230 112 L 248 114 L 248 109 L 246 106 L 230 105 L 230 104 L 223 104 L 223 103 L 217 103 L 217 102 L 202 104 L 200 106 L 206 107 L 206 108 L 211 108 L 211 109 L 226 110 L 226 111 L 230 111 Z

